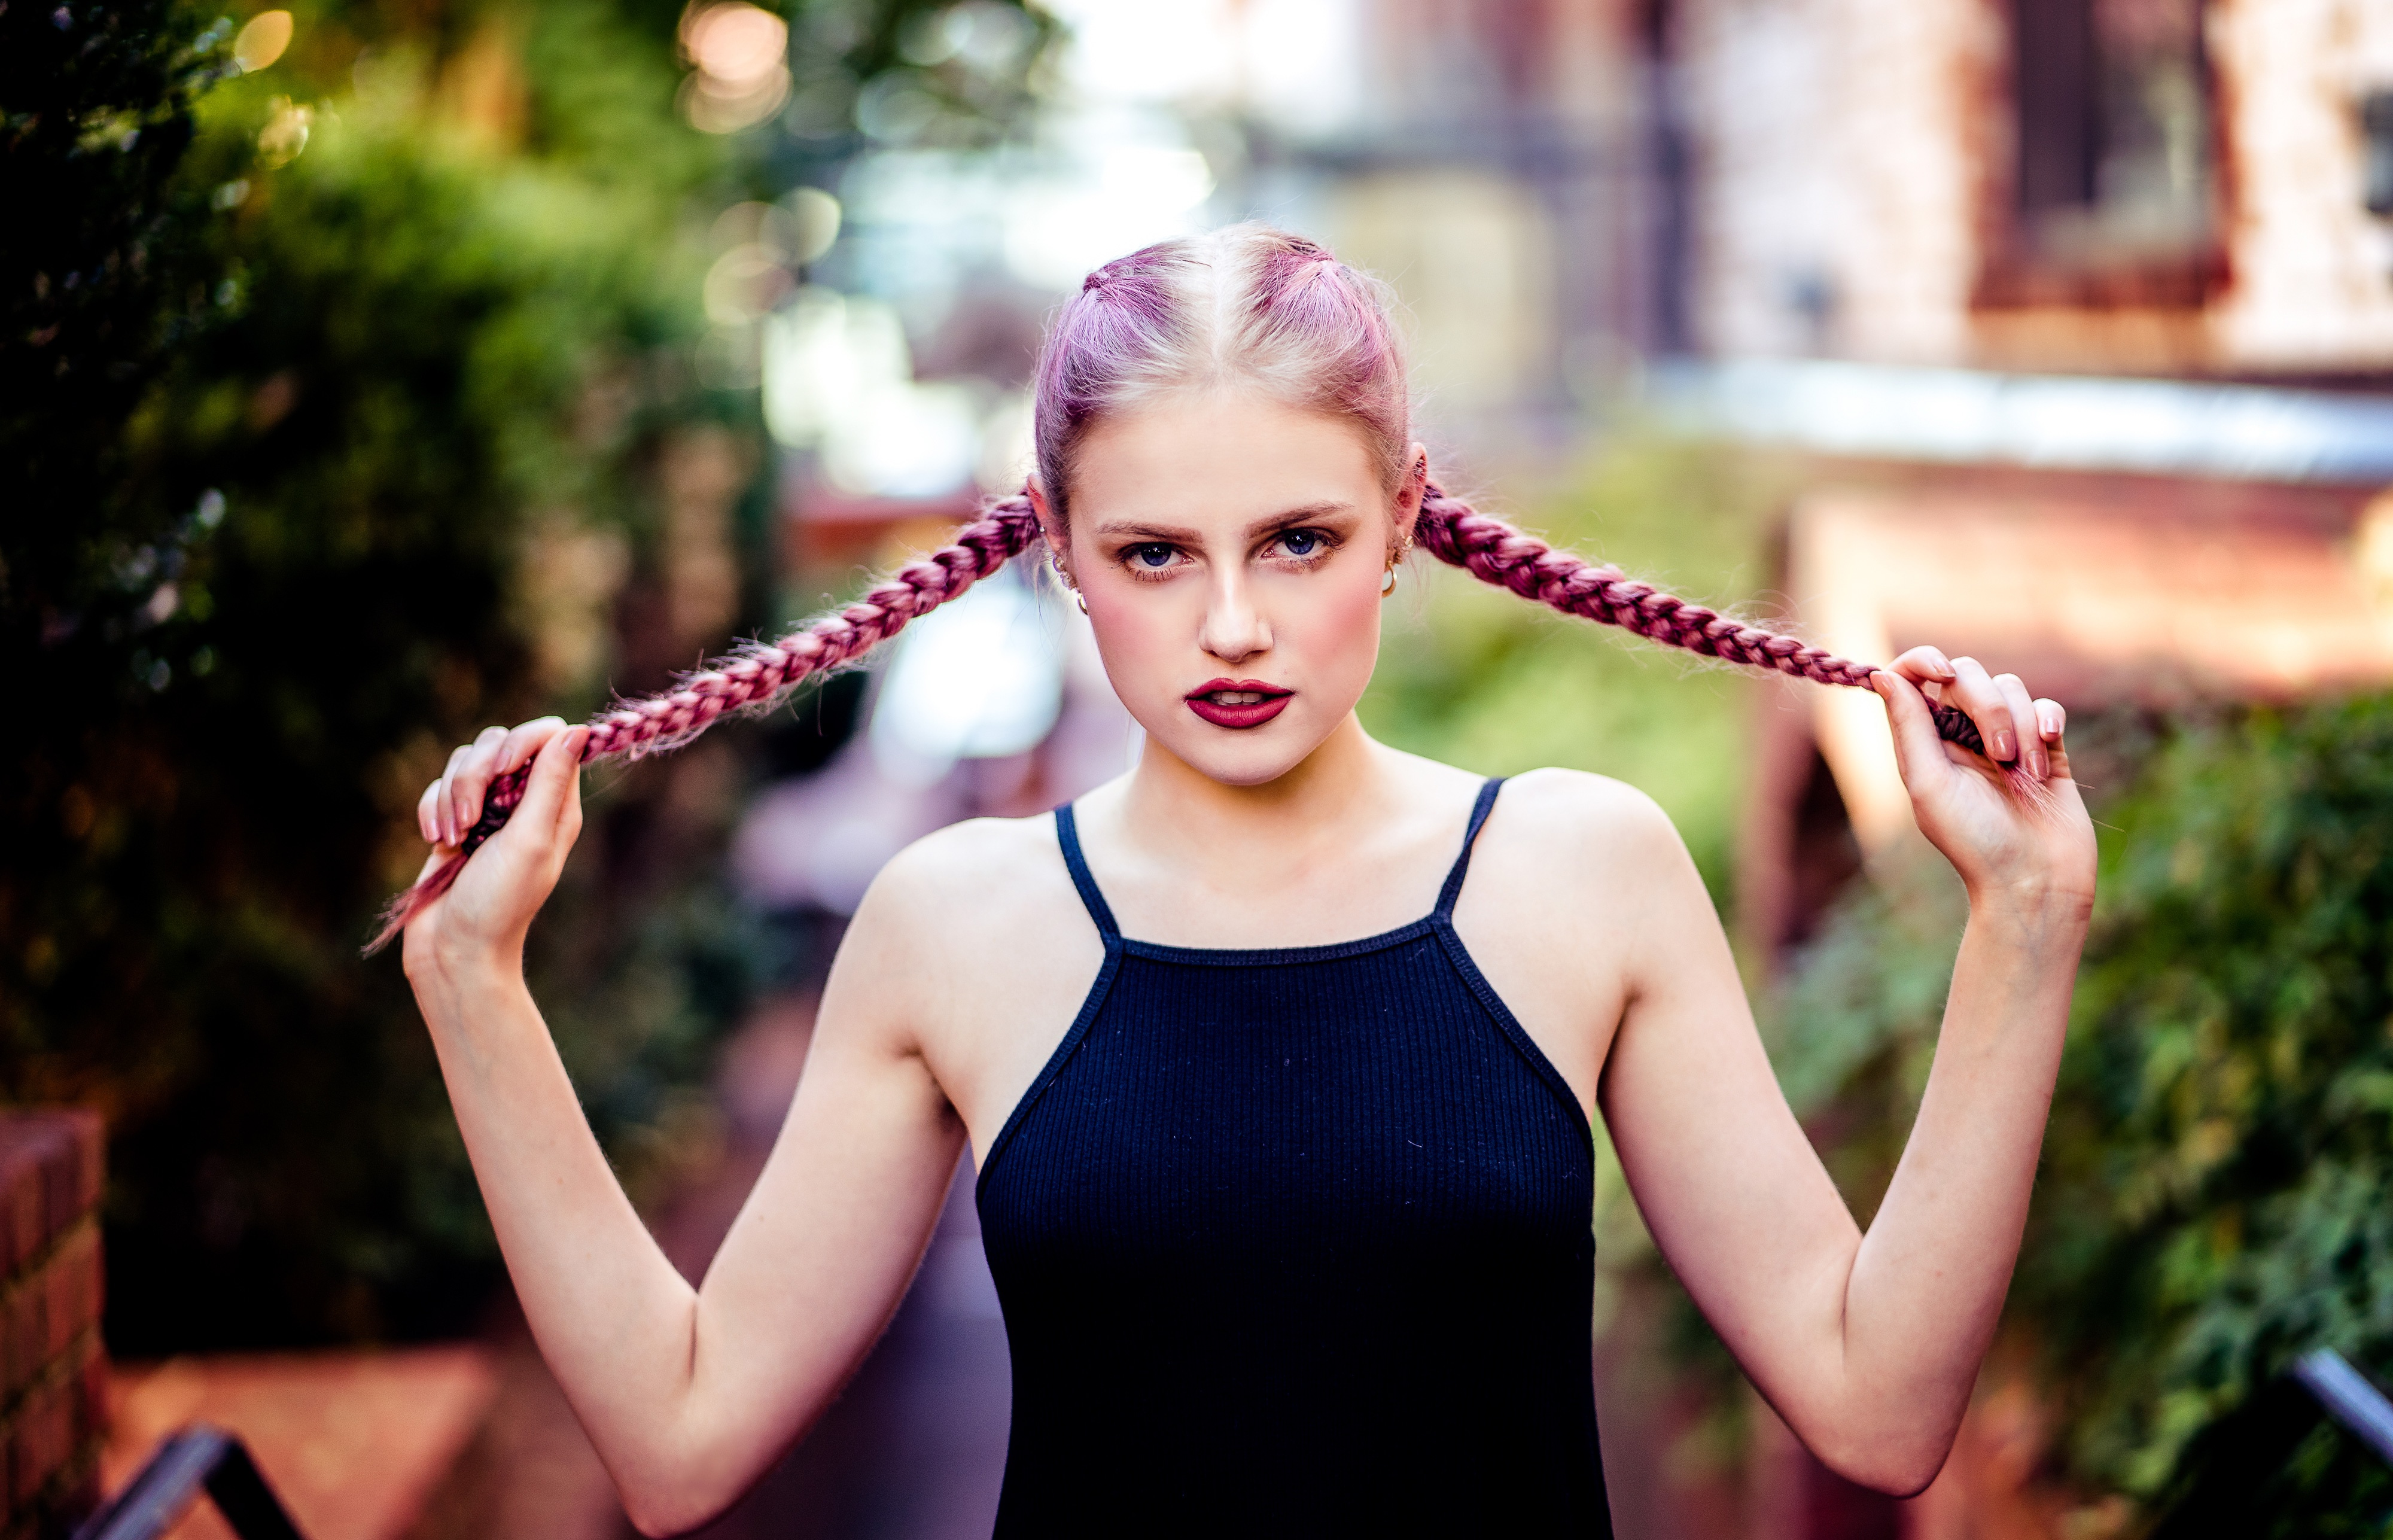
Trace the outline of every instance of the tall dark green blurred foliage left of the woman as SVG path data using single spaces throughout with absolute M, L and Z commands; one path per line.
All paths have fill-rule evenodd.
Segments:
M 108 1112 L 134 1356 L 455 1330 L 488 1296 L 397 959 L 357 945 L 447 744 L 689 662 L 644 622 L 675 454 L 763 464 L 692 352 L 708 222 L 785 187 L 792 136 L 680 120 L 677 2 L 294 10 L 246 77 L 206 12 L 0 10 L 0 1098 Z M 869 84 L 938 10 L 823 0 L 792 67 Z M 593 548 L 629 588 L 560 600 Z M 560 627 L 598 634 L 586 667 Z M 754 985 L 713 863 L 737 780 L 727 744 L 615 782 L 536 933 L 634 1167 Z

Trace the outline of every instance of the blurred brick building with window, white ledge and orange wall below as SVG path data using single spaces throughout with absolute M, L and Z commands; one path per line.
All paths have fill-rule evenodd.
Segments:
M 2393 7 L 1673 0 L 1661 33 L 1699 359 L 1663 399 L 1819 457 L 1807 634 L 2072 708 L 2393 677 Z M 1910 813 L 1874 701 L 1788 691 L 1764 737 L 1771 952 Z

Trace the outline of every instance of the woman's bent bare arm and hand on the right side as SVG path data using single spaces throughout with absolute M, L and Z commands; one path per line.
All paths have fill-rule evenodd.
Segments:
M 1601 1095 L 1656 1243 L 1754 1385 L 1831 1468 L 1917 1492 L 1950 1452 L 2027 1224 L 2094 906 L 2094 827 L 2060 705 L 1934 648 L 1874 684 L 1969 925 L 1869 1232 L 1778 1093 L 1699 885 L 1666 885 L 1646 911 Z M 1922 686 L 1967 710 L 2001 763 L 1941 741 Z

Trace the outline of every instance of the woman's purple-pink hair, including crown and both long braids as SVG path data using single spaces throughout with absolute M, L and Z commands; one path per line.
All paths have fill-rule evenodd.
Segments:
M 1058 521 L 1070 519 L 1072 459 L 1103 416 L 1206 385 L 1235 383 L 1290 407 L 1350 418 L 1362 428 L 1390 490 L 1409 469 L 1409 397 L 1386 287 L 1316 242 L 1264 225 L 1163 242 L 1091 273 L 1058 311 L 1039 354 L 1036 380 L 1031 438 Z M 1855 689 L 1869 689 L 1876 672 L 1867 662 L 1835 658 L 1795 636 L 1661 593 L 1618 567 L 1553 550 L 1436 485 L 1421 497 L 1414 538 L 1433 557 L 1486 583 L 1704 658 Z M 780 641 L 747 643 L 682 674 L 672 689 L 620 701 L 596 715 L 581 760 L 660 753 L 725 715 L 768 713 L 804 679 L 859 662 L 907 622 L 957 598 L 1041 540 L 1027 485 L 995 497 L 950 545 L 907 562 L 852 605 L 811 619 Z M 1965 713 L 1950 705 L 1936 705 L 1934 713 L 1936 729 L 1948 741 L 1984 753 Z M 450 890 L 467 858 L 505 827 L 529 780 L 526 765 L 491 782 L 481 820 L 457 851 L 383 909 L 369 954 Z

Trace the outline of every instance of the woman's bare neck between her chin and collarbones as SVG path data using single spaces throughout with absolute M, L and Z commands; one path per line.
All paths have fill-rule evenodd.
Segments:
M 1122 792 L 1120 837 L 1185 870 L 1264 875 L 1354 849 L 1400 808 L 1388 751 L 1347 713 L 1292 770 L 1254 787 L 1223 784 L 1149 739 Z

